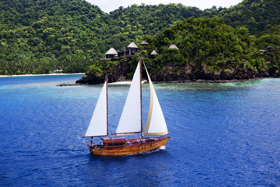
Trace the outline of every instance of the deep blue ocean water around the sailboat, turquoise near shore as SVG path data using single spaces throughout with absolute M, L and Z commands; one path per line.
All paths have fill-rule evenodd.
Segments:
M 0 186 L 280 186 L 280 79 L 155 84 L 173 140 L 97 157 L 77 136 L 101 85 L 56 86 L 81 76 L 0 78 Z M 109 133 L 128 89 L 108 86 Z M 144 119 L 148 91 L 143 85 Z

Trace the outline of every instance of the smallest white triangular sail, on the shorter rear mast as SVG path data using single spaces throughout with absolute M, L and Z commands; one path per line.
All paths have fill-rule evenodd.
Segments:
M 105 81 L 99 95 L 90 125 L 84 137 L 107 136 L 107 91 Z

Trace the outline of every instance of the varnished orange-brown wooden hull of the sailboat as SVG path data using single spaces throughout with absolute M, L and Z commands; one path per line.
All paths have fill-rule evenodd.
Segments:
M 140 141 L 139 139 L 130 139 L 130 144 L 126 144 L 122 148 L 113 148 L 113 147 L 91 147 L 90 154 L 98 155 L 98 156 L 118 156 L 118 155 L 126 155 L 126 154 L 137 154 L 145 151 L 152 151 L 161 146 L 164 146 L 169 137 L 156 137 L 156 138 L 143 138 L 144 141 Z

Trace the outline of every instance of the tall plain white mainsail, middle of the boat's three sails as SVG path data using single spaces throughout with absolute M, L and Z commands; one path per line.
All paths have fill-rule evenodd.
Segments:
M 140 62 L 133 75 L 124 110 L 117 127 L 118 135 L 134 134 L 141 132 L 141 100 L 140 100 Z

